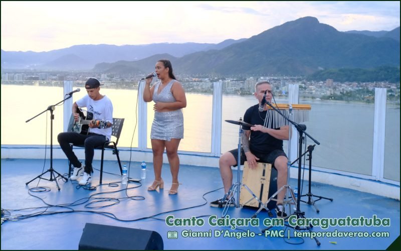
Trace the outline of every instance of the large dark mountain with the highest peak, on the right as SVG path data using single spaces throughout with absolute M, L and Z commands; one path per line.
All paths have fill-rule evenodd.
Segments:
M 399 41 L 339 32 L 305 17 L 221 50 L 199 51 L 174 61 L 178 74 L 308 75 L 330 68 L 398 67 Z M 144 72 L 153 69 L 142 62 L 131 64 Z

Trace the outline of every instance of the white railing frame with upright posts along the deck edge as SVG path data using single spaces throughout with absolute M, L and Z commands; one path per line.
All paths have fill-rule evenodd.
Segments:
M 147 148 L 147 103 L 142 99 L 144 85 L 140 85 L 138 89 L 138 147 L 132 148 L 135 160 L 146 160 L 151 162 L 152 154 L 151 149 Z M 298 97 L 298 86 L 290 85 L 289 102 L 297 103 Z M 64 81 L 63 93 L 68 93 L 73 89 L 73 81 Z M 212 109 L 212 142 L 211 151 L 209 153 L 191 152 L 191 151 L 179 151 L 181 156 L 182 164 L 199 165 L 199 166 L 213 166 L 218 167 L 218 157 L 221 155 L 222 146 L 222 85 L 220 82 L 215 82 L 213 85 L 213 109 Z M 71 114 L 72 99 L 67 100 L 64 103 L 64 130 L 66 131 Z M 375 104 L 374 104 L 374 127 L 373 127 L 373 155 L 371 163 L 371 174 L 362 175 L 356 173 L 350 173 L 346 171 L 339 171 L 333 169 L 326 169 L 321 167 L 313 167 L 314 171 L 319 173 L 334 173 L 342 176 L 356 177 L 361 179 L 380 181 L 386 184 L 392 184 L 398 186 L 399 193 L 399 181 L 389 180 L 384 178 L 384 142 L 385 142 L 385 114 L 386 114 L 386 89 L 375 88 Z M 313 135 L 312 135 L 313 136 Z M 294 138 L 294 137 L 293 137 Z M 318 139 L 317 139 L 318 140 Z M 57 144 L 57 142 L 55 143 Z M 297 139 L 291 140 L 292 153 L 297 153 Z M 21 149 L 22 152 L 26 153 L 27 146 L 15 146 L 15 145 L 2 145 L 2 158 L 32 158 L 30 154 L 13 155 L 12 151 Z M 43 146 L 31 146 L 32 148 L 43 148 Z M 58 146 L 55 146 L 56 148 Z M 25 149 L 25 150 L 23 150 Z M 130 148 L 120 148 L 122 160 L 128 160 L 128 153 Z M 57 152 L 58 150 L 58 152 Z M 55 158 L 64 158 L 63 153 L 58 148 L 55 153 Z M 37 152 L 37 150 L 33 151 Z M 18 157 L 20 156 L 20 157 Z M 38 156 L 38 155 L 36 155 Z M 35 158 L 37 158 L 35 156 Z M 40 156 L 40 155 L 39 155 Z M 96 158 L 96 156 L 95 156 Z M 111 153 L 106 153 L 105 159 L 115 159 Z M 166 160 L 166 158 L 164 158 Z M 291 156 L 291 160 L 296 159 L 296 156 Z M 294 172 L 296 173 L 296 172 Z M 324 176 L 324 175 L 322 175 Z M 322 181 L 324 182 L 324 181 Z M 358 182 L 356 182 L 359 184 Z M 358 185 L 359 186 L 359 185 Z M 398 196 L 399 198 L 399 196 Z

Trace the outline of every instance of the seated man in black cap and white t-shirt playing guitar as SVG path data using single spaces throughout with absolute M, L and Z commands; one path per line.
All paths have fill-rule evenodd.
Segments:
M 97 147 L 103 146 L 105 142 L 110 141 L 111 126 L 113 123 L 113 104 L 106 95 L 99 93 L 99 80 L 89 78 L 85 83 L 85 88 L 88 95 L 77 100 L 72 105 L 72 114 L 75 120 L 72 132 L 60 133 L 57 137 L 61 149 L 74 166 L 73 175 L 70 177 L 71 180 L 77 180 L 82 172 L 84 172 L 83 177 L 79 181 L 80 185 L 92 182 L 91 172 L 94 150 Z M 89 131 L 84 132 L 82 130 L 81 132 L 79 125 L 85 124 L 86 120 L 81 120 L 78 107 L 86 107 L 88 114 L 93 114 L 91 122 L 86 122 Z M 79 130 L 74 131 L 76 128 L 79 128 Z M 82 165 L 77 156 L 75 156 L 70 143 L 85 146 L 85 165 Z

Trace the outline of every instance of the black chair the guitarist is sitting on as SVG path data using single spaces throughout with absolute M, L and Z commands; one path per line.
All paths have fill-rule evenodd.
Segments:
M 122 131 L 122 126 L 124 124 L 124 118 L 115 118 L 113 117 L 113 126 L 111 127 L 111 136 L 114 136 L 116 138 L 115 142 L 114 141 L 108 141 L 104 143 L 103 146 L 97 147 L 95 149 L 101 149 L 102 150 L 102 161 L 100 164 L 100 182 L 99 184 L 102 184 L 102 178 L 103 178 L 103 157 L 104 157 L 104 150 L 105 149 L 113 149 L 113 154 L 117 156 L 118 160 L 118 166 L 120 167 L 120 173 L 122 175 L 122 167 L 121 167 L 121 161 L 120 161 L 120 156 L 118 155 L 118 149 L 117 149 L 117 144 L 118 144 L 118 139 L 120 138 L 121 131 Z M 76 147 L 82 147 L 84 148 L 84 145 L 76 145 Z M 71 148 L 73 148 L 73 145 L 71 145 Z M 69 172 L 68 172 L 68 177 L 71 176 L 71 163 L 69 167 Z

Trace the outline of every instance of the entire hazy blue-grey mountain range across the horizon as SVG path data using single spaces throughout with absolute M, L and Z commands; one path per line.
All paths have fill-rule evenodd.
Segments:
M 35 64 L 36 69 L 94 67 L 92 70 L 101 72 L 148 73 L 158 59 L 167 58 L 178 74 L 306 75 L 328 68 L 399 67 L 399 45 L 399 27 L 389 32 L 339 32 L 314 17 L 304 17 L 249 39 L 220 44 L 77 45 L 49 52 L 2 50 L 2 69 L 32 68 Z

